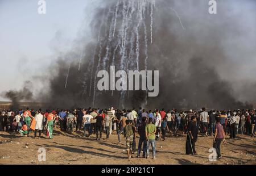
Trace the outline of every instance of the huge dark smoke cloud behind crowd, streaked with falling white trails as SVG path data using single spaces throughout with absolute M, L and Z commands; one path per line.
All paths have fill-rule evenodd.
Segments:
M 94 107 L 104 108 L 111 106 L 119 108 L 251 107 L 246 103 L 246 97 L 250 97 L 249 95 L 243 94 L 241 89 L 234 91 L 234 86 L 238 87 L 236 85 L 240 82 L 236 80 L 238 62 L 233 58 L 241 55 L 255 56 L 253 49 L 255 43 L 251 43 L 249 47 L 243 45 L 253 41 L 255 35 L 249 37 L 249 31 L 252 31 L 251 26 L 245 28 L 241 24 L 243 9 L 240 9 L 238 1 L 218 2 L 216 15 L 208 13 L 208 1 L 193 3 L 191 1 L 156 1 L 155 7 L 154 4 L 151 6 L 153 1 L 149 1 L 149 10 L 146 5 L 144 11 L 146 15 L 143 19 L 147 34 L 147 69 L 159 70 L 158 97 L 147 98 L 146 106 L 145 91 L 114 91 L 112 96 L 112 91 L 97 91 L 96 87 L 94 92 L 94 78 L 98 70 L 109 70 L 113 63 L 116 70 L 137 69 L 137 12 L 134 12 L 128 20 L 125 59 L 122 60 L 123 46 L 117 47 L 119 41 L 123 42 L 122 16 L 126 15 L 127 11 L 123 9 L 127 9 L 128 2 L 120 0 L 118 10 L 115 11 L 117 1 L 102 1 L 104 7 L 96 10 L 90 24 L 93 40 L 86 43 L 82 49 L 74 47 L 66 55 L 59 56 L 59 60 L 49 69 L 54 72 L 51 73 L 49 83 L 44 87 L 44 90 L 48 91 L 41 94 L 41 99 L 48 102 L 49 106 L 88 107 L 93 106 L 94 102 Z M 255 6 L 253 1 L 243 2 Z M 152 44 L 151 7 L 154 9 Z M 113 20 L 115 15 L 117 15 L 117 22 L 113 36 L 112 24 L 115 21 Z M 255 24 L 252 26 L 255 27 Z M 138 33 L 139 69 L 142 70 L 146 67 L 143 23 Z M 78 39 L 76 45 L 84 46 L 85 41 Z M 240 48 L 236 48 L 237 45 Z M 115 48 L 118 49 L 115 50 Z M 116 51 L 115 54 L 114 51 Z M 83 53 L 83 57 L 79 70 L 80 53 Z M 68 79 L 67 74 L 69 74 Z M 250 81 L 253 82 L 253 80 Z M 253 87 L 247 87 L 246 90 L 253 90 Z M 237 98 L 237 94 L 240 94 L 240 97 L 242 95 L 243 101 Z M 250 99 L 251 102 L 255 100 L 255 98 Z

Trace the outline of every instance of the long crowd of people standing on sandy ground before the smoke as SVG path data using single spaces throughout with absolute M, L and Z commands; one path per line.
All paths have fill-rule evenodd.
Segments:
M 32 128 L 32 121 L 35 120 Z M 137 157 L 148 158 L 152 148 L 152 157 L 155 158 L 156 140 L 166 140 L 166 133 L 171 136 L 187 134 L 186 154 L 197 154 L 195 143 L 197 136 L 214 136 L 213 147 L 216 148 L 218 158 L 221 158 L 220 145 L 225 142 L 225 136 L 236 139 L 237 134 L 255 135 L 255 110 L 210 110 L 202 108 L 200 111 L 178 110 L 117 110 L 112 108 L 77 108 L 74 110 L 46 110 L 42 111 L 26 108 L 19 111 L 2 110 L 0 116 L 0 130 L 20 133 L 29 136 L 34 131 L 35 139 L 45 133 L 49 139 L 53 138 L 53 128 L 60 128 L 65 133 L 72 134 L 83 131 L 84 137 L 96 135 L 96 140 L 105 140 L 116 131 L 118 143 L 122 144 L 122 135 L 125 137 L 127 157 L 132 154 Z M 39 136 L 37 133 L 39 132 Z M 138 148 L 136 136 L 139 135 Z M 142 147 L 143 145 L 143 147 Z

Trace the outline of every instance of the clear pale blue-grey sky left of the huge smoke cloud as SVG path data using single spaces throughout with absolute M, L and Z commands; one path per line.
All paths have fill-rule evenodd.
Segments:
M 46 14 L 38 14 L 38 0 L 0 0 L 0 92 L 19 90 L 31 74 L 52 63 L 56 50 L 71 47 L 96 4 L 51 0 Z

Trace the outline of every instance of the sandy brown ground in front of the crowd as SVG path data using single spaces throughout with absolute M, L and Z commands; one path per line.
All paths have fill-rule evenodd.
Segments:
M 135 158 L 136 154 L 128 160 L 126 146 L 117 144 L 117 135 L 111 135 L 108 140 L 96 141 L 95 136 L 82 137 L 82 132 L 67 135 L 56 129 L 54 138 L 49 140 L 44 135 L 42 139 L 33 139 L 1 132 L 0 164 L 256 164 L 256 139 L 238 136 L 237 140 L 227 137 L 227 143 L 221 146 L 223 158 L 210 162 L 208 150 L 212 147 L 213 137 L 199 137 L 196 143 L 198 155 L 188 156 L 184 154 L 186 137 L 167 134 L 165 141 L 156 141 L 156 160 L 151 157 Z M 122 142 L 125 143 L 125 139 Z M 46 149 L 45 162 L 38 161 L 40 147 Z

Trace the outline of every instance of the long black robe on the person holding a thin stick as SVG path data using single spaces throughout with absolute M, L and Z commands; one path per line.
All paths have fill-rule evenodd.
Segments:
M 195 143 L 197 140 L 198 130 L 199 129 L 196 125 L 196 122 L 189 121 L 188 135 L 187 135 L 187 141 L 186 141 L 186 154 L 195 154 L 196 153 Z M 191 131 L 193 139 L 191 138 L 189 131 Z

